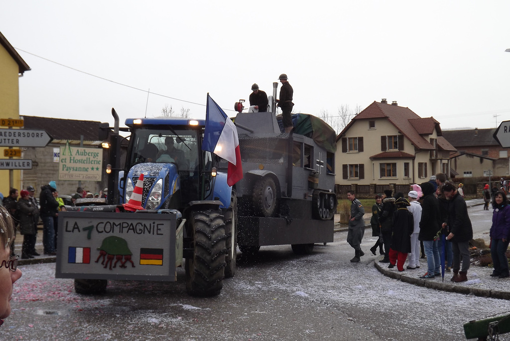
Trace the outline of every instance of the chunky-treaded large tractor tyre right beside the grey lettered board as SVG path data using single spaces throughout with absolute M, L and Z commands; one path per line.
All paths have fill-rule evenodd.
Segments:
M 223 287 L 225 224 L 218 210 L 192 212 L 193 257 L 186 259 L 186 290 L 192 296 L 216 296 Z

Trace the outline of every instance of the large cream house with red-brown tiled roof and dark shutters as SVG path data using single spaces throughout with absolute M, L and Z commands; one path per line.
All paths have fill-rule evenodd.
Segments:
M 436 173 L 450 174 L 449 156 L 455 148 L 442 135 L 433 117 L 422 118 L 386 99 L 374 101 L 337 136 L 336 183 L 369 185 L 372 192 L 389 184 L 409 188 Z

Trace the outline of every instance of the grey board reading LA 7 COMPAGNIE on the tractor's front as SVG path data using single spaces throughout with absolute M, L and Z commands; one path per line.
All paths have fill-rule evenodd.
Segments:
M 175 281 L 175 214 L 92 210 L 59 212 L 56 278 Z

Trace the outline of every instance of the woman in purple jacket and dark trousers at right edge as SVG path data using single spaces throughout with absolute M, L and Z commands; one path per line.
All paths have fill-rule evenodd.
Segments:
M 506 258 L 506 249 L 510 242 L 510 206 L 503 191 L 496 192 L 492 207 L 494 212 L 492 213 L 490 236 L 494 271 L 491 277 L 506 278 L 510 276 Z

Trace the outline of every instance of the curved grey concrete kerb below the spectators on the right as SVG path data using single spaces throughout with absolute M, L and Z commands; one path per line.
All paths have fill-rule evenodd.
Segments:
M 430 289 L 449 291 L 450 293 L 457 294 L 465 294 L 465 295 L 474 295 L 480 297 L 491 297 L 500 300 L 510 300 L 510 292 L 502 291 L 502 290 L 491 290 L 491 289 L 482 289 L 476 287 L 465 286 L 462 283 L 452 283 L 448 280 L 446 282 L 438 282 L 437 280 L 431 279 L 421 279 L 418 277 L 409 277 L 405 274 L 401 274 L 398 272 L 390 271 L 386 267 L 382 267 L 378 264 L 377 261 L 374 261 L 374 266 L 376 269 L 383 275 L 418 286 L 423 286 Z

